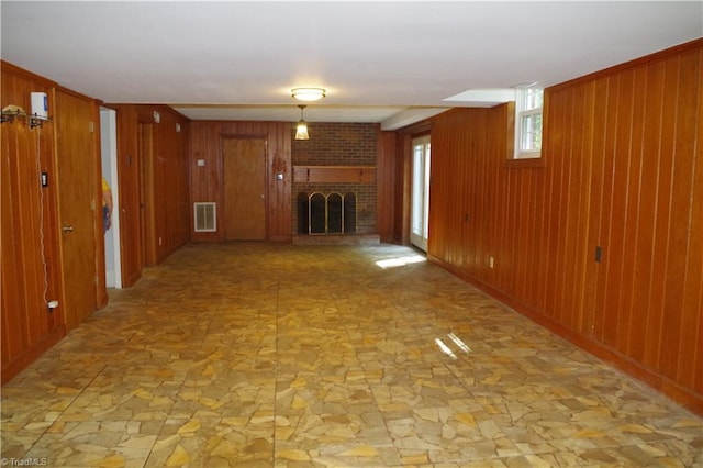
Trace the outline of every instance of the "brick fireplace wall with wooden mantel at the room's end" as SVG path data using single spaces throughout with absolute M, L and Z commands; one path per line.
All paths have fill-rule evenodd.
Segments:
M 354 196 L 354 231 L 338 233 L 334 227 L 325 234 L 376 235 L 378 124 L 313 122 L 309 129 L 310 140 L 293 140 L 291 145 L 293 237 L 310 235 L 309 204 L 302 201 L 314 193 L 332 200 L 335 193 Z

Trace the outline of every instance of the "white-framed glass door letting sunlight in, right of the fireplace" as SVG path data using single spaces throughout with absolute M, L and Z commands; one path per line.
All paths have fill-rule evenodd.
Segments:
M 429 215 L 429 135 L 413 138 L 413 191 L 410 242 L 427 252 Z

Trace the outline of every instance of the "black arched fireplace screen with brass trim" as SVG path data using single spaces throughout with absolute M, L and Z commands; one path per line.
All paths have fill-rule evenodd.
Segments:
M 356 232 L 356 194 L 298 193 L 298 231 L 301 234 Z

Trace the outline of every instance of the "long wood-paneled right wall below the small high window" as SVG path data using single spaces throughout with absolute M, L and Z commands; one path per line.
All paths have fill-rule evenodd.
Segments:
M 545 99 L 542 167 L 510 104 L 434 120 L 431 258 L 703 413 L 703 41 Z

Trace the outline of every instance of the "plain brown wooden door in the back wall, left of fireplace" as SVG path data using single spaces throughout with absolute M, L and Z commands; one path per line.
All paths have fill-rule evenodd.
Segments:
M 266 238 L 266 141 L 223 141 L 224 237 Z

